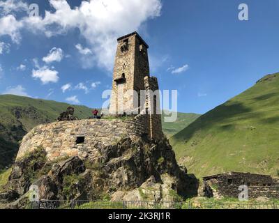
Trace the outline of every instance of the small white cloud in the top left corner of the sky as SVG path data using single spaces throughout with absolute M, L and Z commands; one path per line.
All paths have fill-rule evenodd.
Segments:
M 28 11 L 27 3 L 15 0 L 0 1 L 0 15 L 8 15 L 13 12 Z

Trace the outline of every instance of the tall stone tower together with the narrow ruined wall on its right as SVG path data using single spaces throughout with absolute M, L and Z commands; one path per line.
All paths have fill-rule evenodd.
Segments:
M 151 139 L 163 137 L 160 97 L 153 94 L 159 89 L 156 77 L 150 77 L 149 45 L 137 32 L 117 39 L 116 58 L 110 100 L 110 114 L 145 116 Z M 142 92 L 144 94 L 142 94 Z

